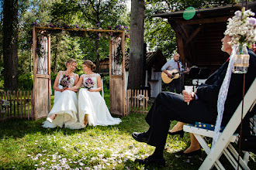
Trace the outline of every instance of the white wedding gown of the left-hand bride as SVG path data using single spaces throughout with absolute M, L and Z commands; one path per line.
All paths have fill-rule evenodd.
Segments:
M 74 74 L 70 78 L 71 84 L 69 87 L 74 86 L 74 80 L 77 74 Z M 62 89 L 60 85 L 63 73 L 60 73 L 59 85 L 58 87 Z M 64 90 L 63 92 L 55 91 L 54 92 L 54 107 L 50 110 L 48 117 L 52 114 L 56 114 L 53 123 L 49 121 L 43 122 L 43 128 L 71 128 L 74 129 L 76 126 L 74 124 L 78 121 L 78 97 L 74 91 Z

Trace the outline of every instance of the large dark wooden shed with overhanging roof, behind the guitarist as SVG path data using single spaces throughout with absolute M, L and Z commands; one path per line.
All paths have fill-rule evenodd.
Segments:
M 256 2 L 248 2 L 248 8 L 256 12 Z M 240 9 L 241 4 L 196 8 L 189 20 L 183 18 L 184 11 L 158 13 L 154 17 L 168 19 L 176 34 L 182 63 L 207 67 L 213 72 L 228 58 L 228 54 L 221 51 L 221 39 L 227 29 L 227 19 Z

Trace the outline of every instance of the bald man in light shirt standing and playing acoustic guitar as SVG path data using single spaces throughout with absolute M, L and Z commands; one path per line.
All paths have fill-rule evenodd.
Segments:
M 182 79 L 178 75 L 178 73 L 189 73 L 189 68 L 187 68 L 186 70 L 184 69 L 182 63 L 179 62 L 179 57 L 180 55 L 178 53 L 175 53 L 173 59 L 169 60 L 161 68 L 161 70 L 163 71 L 162 76 L 165 75 L 171 79 L 171 82 L 168 81 L 170 82 L 168 83 L 170 92 L 174 92 L 176 90 L 176 93 L 182 93 Z M 164 81 L 164 83 L 166 82 Z

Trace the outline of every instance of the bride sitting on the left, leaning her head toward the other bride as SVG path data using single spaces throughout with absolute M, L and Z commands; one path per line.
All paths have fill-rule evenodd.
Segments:
M 43 128 L 72 128 L 72 124 L 78 121 L 78 97 L 75 90 L 67 90 L 78 83 L 79 76 L 73 73 L 77 62 L 68 59 L 67 70 L 60 71 L 54 81 L 54 107 L 48 114 L 47 121 L 43 122 Z M 78 90 L 76 90 L 78 91 Z

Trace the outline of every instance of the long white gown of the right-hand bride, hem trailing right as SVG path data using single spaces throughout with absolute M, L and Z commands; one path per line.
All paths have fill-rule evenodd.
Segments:
M 92 89 L 97 88 L 97 77 L 99 73 L 83 74 L 81 76 L 83 77 L 83 85 L 85 87 L 86 80 L 91 78 L 94 83 Z M 108 126 L 121 122 L 121 119 L 111 116 L 106 102 L 99 92 L 90 92 L 86 88 L 81 88 L 78 94 L 78 119 L 81 128 L 85 128 L 85 114 L 87 114 L 88 125 L 90 126 Z

